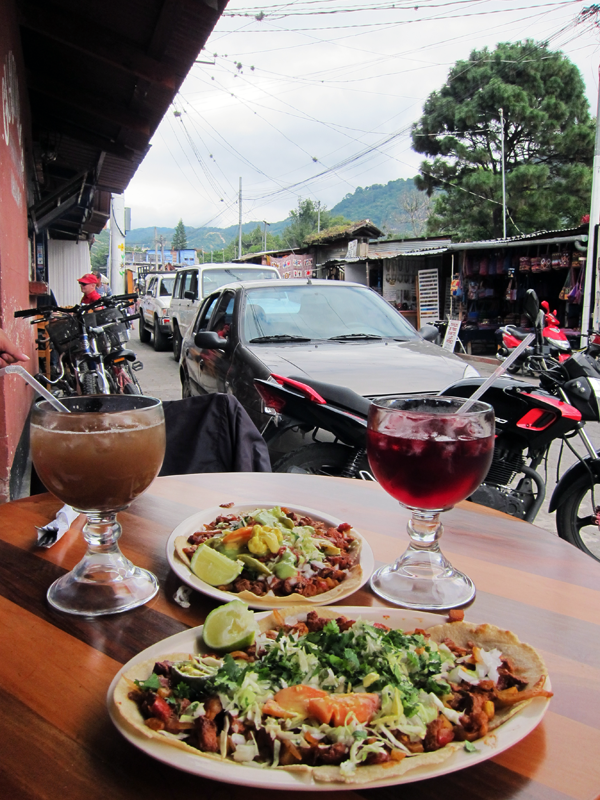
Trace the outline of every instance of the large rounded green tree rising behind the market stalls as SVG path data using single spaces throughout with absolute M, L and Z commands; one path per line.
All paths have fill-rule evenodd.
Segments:
M 575 225 L 589 209 L 594 124 L 577 67 L 533 41 L 474 50 L 427 99 L 415 179 L 438 195 L 429 233 L 501 237 L 502 126 L 507 235 Z

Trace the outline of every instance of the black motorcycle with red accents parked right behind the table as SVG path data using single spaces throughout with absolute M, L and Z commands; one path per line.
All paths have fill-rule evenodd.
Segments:
M 578 461 L 558 481 L 550 511 L 556 511 L 562 539 L 600 560 L 600 457 L 585 431 L 586 422 L 600 421 L 598 355 L 600 335 L 592 337 L 586 350 L 543 372 L 540 386 L 504 376 L 485 392 L 481 399 L 496 415 L 494 457 L 469 499 L 533 522 L 546 494 L 539 469 L 551 444 L 561 440 Z M 483 382 L 462 380 L 441 394 L 470 397 Z M 267 443 L 288 428 L 313 431 L 314 441 L 283 456 L 274 464 L 275 472 L 373 479 L 366 457 L 368 399 L 306 378 L 272 375 L 254 383 L 265 410 L 273 415 L 263 432 Z M 318 441 L 322 432 L 332 441 Z M 584 455 L 575 450 L 574 439 L 583 445 Z

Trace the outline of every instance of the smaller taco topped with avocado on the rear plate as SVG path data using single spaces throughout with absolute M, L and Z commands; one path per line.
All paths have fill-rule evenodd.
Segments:
M 333 603 L 363 583 L 362 539 L 352 526 L 337 527 L 274 506 L 223 513 L 190 536 L 178 536 L 175 553 L 197 577 L 194 554 L 210 547 L 237 565 L 227 584 L 204 580 L 236 598 L 263 605 Z

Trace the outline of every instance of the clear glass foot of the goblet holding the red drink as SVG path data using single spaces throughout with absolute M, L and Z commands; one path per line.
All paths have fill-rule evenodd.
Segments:
M 473 581 L 455 569 L 439 547 L 408 547 L 395 562 L 371 576 L 371 589 L 394 605 L 420 611 L 446 611 L 470 603 Z

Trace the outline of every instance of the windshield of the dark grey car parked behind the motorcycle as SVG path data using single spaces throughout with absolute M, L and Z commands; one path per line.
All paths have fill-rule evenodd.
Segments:
M 248 289 L 244 336 L 249 342 L 283 337 L 360 341 L 418 339 L 415 329 L 385 300 L 366 287 L 276 286 Z M 275 338 L 273 338 L 275 337 Z

